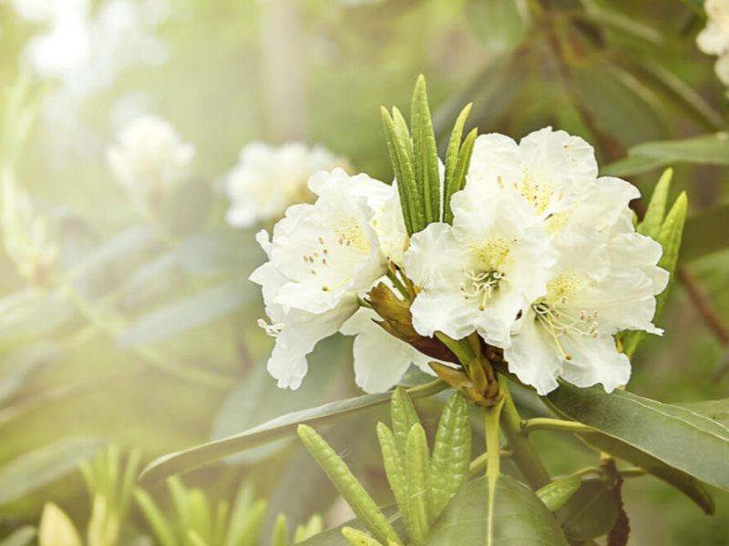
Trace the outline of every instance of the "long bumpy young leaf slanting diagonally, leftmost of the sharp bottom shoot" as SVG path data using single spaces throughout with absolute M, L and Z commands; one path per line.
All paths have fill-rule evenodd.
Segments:
M 342 493 L 344 500 L 347 501 L 357 518 L 364 523 L 367 530 L 372 532 L 379 541 L 386 543 L 387 540 L 392 540 L 398 544 L 401 543 L 395 529 L 385 518 L 385 514 L 377 508 L 375 501 L 364 490 L 362 484 L 354 477 L 336 451 L 315 430 L 306 425 L 299 426 L 299 438 L 332 480 L 336 489 Z

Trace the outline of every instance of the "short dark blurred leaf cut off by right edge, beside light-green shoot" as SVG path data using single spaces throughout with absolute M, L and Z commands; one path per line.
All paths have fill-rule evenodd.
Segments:
M 682 262 L 729 247 L 726 233 L 729 233 L 729 204 L 717 205 L 689 217 L 683 231 Z

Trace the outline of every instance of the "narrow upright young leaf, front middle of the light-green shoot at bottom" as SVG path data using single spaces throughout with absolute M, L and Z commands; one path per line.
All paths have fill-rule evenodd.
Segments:
M 430 457 L 428 455 L 426 431 L 416 423 L 407 436 L 407 447 L 405 457 L 406 475 L 406 506 L 401 506 L 401 511 L 407 512 L 406 522 L 410 522 L 407 529 L 410 540 L 416 546 L 424 544 L 430 531 L 432 517 L 428 505 L 428 467 Z

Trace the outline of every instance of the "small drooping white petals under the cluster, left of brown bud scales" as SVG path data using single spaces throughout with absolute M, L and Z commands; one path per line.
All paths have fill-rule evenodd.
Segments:
M 364 392 L 384 392 L 395 386 L 411 364 L 433 375 L 433 361 L 417 349 L 388 334 L 374 320 L 372 309 L 360 308 L 342 329 L 354 338 L 354 379 Z

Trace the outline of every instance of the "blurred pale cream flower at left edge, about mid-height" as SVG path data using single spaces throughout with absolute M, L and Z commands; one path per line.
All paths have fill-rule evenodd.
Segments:
M 31 284 L 43 284 L 56 263 L 58 247 L 50 238 L 46 218 L 36 214 L 9 172 L 3 174 L 2 219 L 8 257 Z

